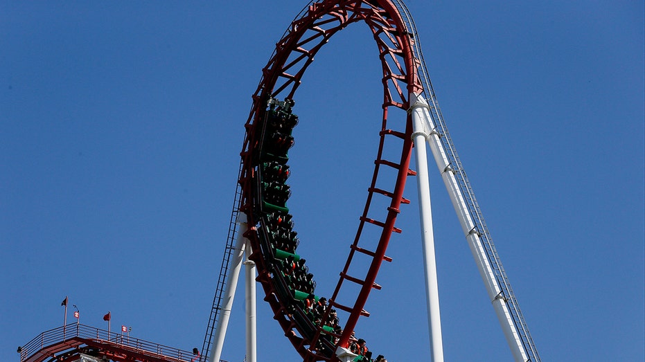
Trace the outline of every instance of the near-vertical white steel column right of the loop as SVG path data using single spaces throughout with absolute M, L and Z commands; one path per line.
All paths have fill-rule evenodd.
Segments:
M 412 140 L 416 150 L 416 180 L 418 187 L 419 214 L 421 217 L 421 244 L 423 245 L 423 266 L 425 269 L 425 291 L 427 293 L 428 327 L 430 328 L 431 361 L 443 362 L 443 338 L 441 336 L 441 314 L 439 311 L 439 286 L 436 281 L 436 258 L 434 256 L 434 231 L 430 205 L 430 180 L 427 171 L 425 143 L 430 129 L 423 122 L 423 110 L 427 104 L 410 98 L 412 113 Z

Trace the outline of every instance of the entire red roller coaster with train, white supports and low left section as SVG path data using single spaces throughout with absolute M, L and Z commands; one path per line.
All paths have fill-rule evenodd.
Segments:
M 365 206 L 349 246 L 344 268 L 330 296 L 316 292 L 288 200 L 291 195 L 290 154 L 293 129 L 299 123 L 296 93 L 318 51 L 337 32 L 353 23 L 368 26 L 382 65 L 382 118 L 375 125 L 378 152 Z M 285 31 L 253 94 L 240 152 L 238 185 L 209 322 L 201 350 L 182 351 L 84 325 L 64 325 L 44 332 L 19 349 L 21 362 L 41 361 L 221 361 L 220 354 L 242 264 L 257 275 L 247 282 L 247 310 L 254 309 L 255 284 L 303 362 L 373 361 L 361 350 L 353 332 L 360 318 L 392 233 L 405 183 L 416 177 L 421 214 L 427 306 L 432 361 L 443 361 L 439 297 L 426 145 L 457 212 L 457 217 L 488 297 L 500 320 L 515 361 L 540 361 L 527 323 L 497 255 L 481 209 L 472 192 L 445 125 L 428 76 L 419 35 L 400 0 L 311 1 Z M 306 120 L 302 120 L 306 122 Z M 396 150 L 393 152 L 392 150 Z M 411 168 L 411 159 L 416 167 Z M 243 257 L 246 256 L 244 262 Z M 256 338 L 247 329 L 247 338 Z M 375 347 L 378 349 L 378 347 Z M 247 347 L 247 361 L 256 361 Z

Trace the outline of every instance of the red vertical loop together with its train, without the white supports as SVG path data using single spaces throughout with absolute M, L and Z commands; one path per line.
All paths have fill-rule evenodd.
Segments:
M 299 239 L 288 208 L 288 150 L 294 143 L 294 95 L 315 55 L 338 31 L 350 24 L 369 27 L 382 64 L 382 118 L 373 123 L 379 143 L 366 203 L 348 248 L 344 269 L 328 299 L 315 292 L 316 283 L 305 259 L 297 253 Z M 245 125 L 242 148 L 240 211 L 247 215 L 245 236 L 258 266 L 258 282 L 267 301 L 303 361 L 338 361 L 339 347 L 350 347 L 352 332 L 372 289 L 391 233 L 400 233 L 396 217 L 403 197 L 412 153 L 408 94 L 423 89 L 412 54 L 414 39 L 394 3 L 384 1 L 320 1 L 310 3 L 276 43 L 263 69 Z M 360 66 L 360 64 L 348 64 Z M 378 76 L 378 75 L 375 75 Z M 389 117 L 393 120 L 389 121 Z M 394 152 L 393 152 L 394 150 Z M 366 231 L 368 230 L 368 231 Z M 362 235 L 369 234 L 369 237 Z M 359 262 L 364 266 L 356 271 Z M 378 346 L 371 346 L 376 347 Z

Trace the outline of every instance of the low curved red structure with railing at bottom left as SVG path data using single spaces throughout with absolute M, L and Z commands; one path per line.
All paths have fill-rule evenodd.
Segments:
M 20 362 L 195 362 L 193 352 L 82 324 L 42 332 L 19 347 Z

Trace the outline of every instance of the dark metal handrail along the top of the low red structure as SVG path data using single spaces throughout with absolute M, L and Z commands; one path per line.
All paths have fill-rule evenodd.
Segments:
M 193 352 L 179 350 L 130 337 L 118 332 L 109 332 L 105 329 L 90 327 L 82 324 L 68 324 L 42 332 L 20 349 L 20 361 L 25 362 L 33 358 L 39 351 L 56 345 L 76 347 L 83 344 L 79 339 L 93 341 L 100 344 L 111 345 L 129 350 L 131 352 L 152 356 L 155 359 L 173 362 L 187 362 L 194 358 Z M 76 344 L 73 343 L 76 341 Z M 66 342 L 69 342 L 66 344 Z

